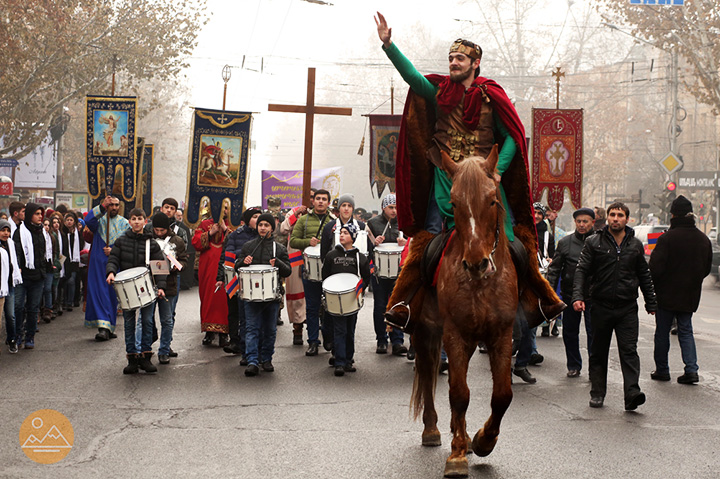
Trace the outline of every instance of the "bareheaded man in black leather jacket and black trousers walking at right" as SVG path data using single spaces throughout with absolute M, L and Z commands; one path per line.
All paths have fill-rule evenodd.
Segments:
M 625 410 L 633 411 L 645 403 L 645 394 L 638 384 L 638 287 L 642 290 L 648 313 L 655 314 L 657 302 L 642 242 L 627 226 L 629 216 L 627 206 L 613 203 L 607 210 L 607 226 L 585 241 L 575 270 L 573 309 L 585 311 L 585 300 L 592 300 L 590 407 L 602 407 L 605 399 L 608 353 L 615 331 L 623 373 Z M 588 282 L 589 298 L 586 295 Z

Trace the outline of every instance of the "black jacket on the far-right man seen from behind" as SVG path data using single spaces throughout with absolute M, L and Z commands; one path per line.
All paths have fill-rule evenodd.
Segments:
M 658 304 L 663 309 L 694 313 L 705 276 L 712 268 L 712 245 L 691 216 L 672 218 L 650 256 Z

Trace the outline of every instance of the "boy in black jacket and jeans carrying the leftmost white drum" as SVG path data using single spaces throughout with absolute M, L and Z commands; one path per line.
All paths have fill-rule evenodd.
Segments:
M 150 260 L 164 260 L 160 246 L 153 240 L 152 233 L 145 232 L 145 211 L 142 208 L 135 208 L 130 212 L 130 229 L 115 241 L 110 251 L 108 264 L 105 272 L 107 283 L 115 282 L 115 275 L 130 268 L 146 267 L 145 248 L 150 247 Z M 166 301 L 165 276 L 155 276 L 155 285 L 158 288 L 158 301 Z M 123 369 L 123 374 L 134 374 L 138 368 L 146 373 L 154 373 L 157 367 L 150 361 L 152 357 L 152 331 L 154 303 L 147 304 L 140 309 L 140 320 L 142 327 L 142 340 L 140 349 L 135 341 L 135 311 L 123 310 L 125 319 L 125 352 L 127 353 L 128 365 Z

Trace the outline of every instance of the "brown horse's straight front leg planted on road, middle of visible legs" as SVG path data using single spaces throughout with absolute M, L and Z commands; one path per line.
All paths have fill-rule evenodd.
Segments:
M 468 363 L 477 343 L 466 341 L 451 321 L 445 323 L 443 334 L 445 353 L 450 369 L 450 409 L 452 419 L 450 430 L 453 434 L 452 452 L 445 462 L 445 477 L 467 477 L 468 475 L 468 434 L 465 413 L 470 404 L 470 389 L 467 385 Z M 509 377 L 509 376 L 508 376 Z

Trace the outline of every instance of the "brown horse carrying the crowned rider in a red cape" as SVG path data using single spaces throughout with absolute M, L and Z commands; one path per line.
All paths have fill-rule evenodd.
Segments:
M 510 362 L 518 287 L 503 230 L 505 211 L 498 187 L 500 177 L 495 171 L 497 161 L 497 146 L 487 159 L 473 157 L 455 163 L 443 155 L 443 169 L 453 180 L 455 235 L 440 265 L 436 291 L 425 289 L 413 301 L 422 302 L 413 334 L 413 408 L 416 418 L 424 409 L 424 446 L 440 445 L 434 394 L 441 344 L 450 366 L 453 439 L 446 477 L 467 476 L 469 446 L 479 456 L 492 452 L 500 421 L 512 401 Z M 416 239 L 424 240 L 413 241 Z M 479 341 L 487 346 L 490 358 L 492 413 L 471 442 L 465 425 L 470 402 L 467 371 Z

